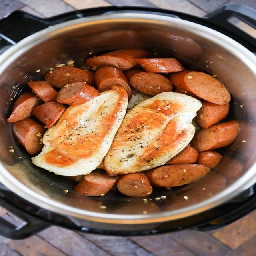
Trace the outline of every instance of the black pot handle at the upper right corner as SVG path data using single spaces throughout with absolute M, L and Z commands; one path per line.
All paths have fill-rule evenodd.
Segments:
M 254 30 L 256 29 L 256 10 L 241 4 L 228 4 L 204 16 L 209 22 L 225 28 L 250 42 L 254 47 L 256 38 L 234 25 L 232 22 L 241 21 Z

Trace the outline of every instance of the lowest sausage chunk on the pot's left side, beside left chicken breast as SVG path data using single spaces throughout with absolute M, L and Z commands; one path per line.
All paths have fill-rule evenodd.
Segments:
M 13 123 L 12 129 L 18 142 L 26 148 L 29 154 L 34 155 L 41 151 L 44 146 L 41 138 L 46 131 L 44 126 L 38 124 L 32 118 L 26 118 Z

